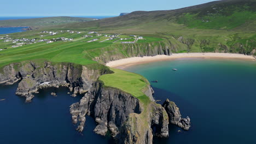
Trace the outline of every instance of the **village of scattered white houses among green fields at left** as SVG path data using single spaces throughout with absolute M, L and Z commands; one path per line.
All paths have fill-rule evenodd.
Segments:
M 56 37 L 57 35 L 65 35 L 68 38 Z M 35 38 L 32 38 L 32 39 L 28 39 L 28 38 L 12 39 L 10 35 L 4 35 L 0 37 L 0 43 L 2 40 L 4 43 L 10 44 L 11 45 L 10 47 L 19 47 L 22 45 L 30 45 L 30 44 L 36 44 L 36 43 L 42 43 L 42 42 L 49 44 L 49 43 L 54 43 L 56 41 L 76 41 L 76 40 L 86 40 L 86 39 L 88 39 L 88 41 L 85 41 L 86 43 L 98 41 L 100 43 L 110 42 L 110 43 L 132 44 L 132 43 L 136 43 L 140 39 L 143 39 L 143 37 L 137 36 L 137 35 L 100 34 L 98 32 L 79 32 L 79 31 L 71 31 L 71 30 L 57 31 L 57 32 L 43 31 L 43 32 L 40 32 L 40 34 L 37 35 L 37 37 L 35 36 Z M 1 48 L 0 51 L 4 49 L 7 49 L 7 47 Z

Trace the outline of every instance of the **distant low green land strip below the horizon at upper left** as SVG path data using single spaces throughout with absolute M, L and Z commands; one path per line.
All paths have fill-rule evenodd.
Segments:
M 94 19 L 84 18 L 84 17 L 68 17 L 68 16 L 43 17 L 43 18 L 36 18 L 36 19 L 0 20 L 0 27 L 54 26 L 54 25 L 61 25 L 65 23 L 85 22 L 85 21 L 92 21 L 92 20 Z

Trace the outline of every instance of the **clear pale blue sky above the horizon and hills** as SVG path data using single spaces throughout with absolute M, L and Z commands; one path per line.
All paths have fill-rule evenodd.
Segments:
M 8 0 L 0 16 L 115 16 L 137 10 L 171 10 L 211 0 Z

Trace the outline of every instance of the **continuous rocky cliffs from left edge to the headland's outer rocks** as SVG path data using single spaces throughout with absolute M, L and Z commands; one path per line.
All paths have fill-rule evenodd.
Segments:
M 168 124 L 188 130 L 190 119 L 181 118 L 178 107 L 170 100 L 156 104 L 153 89 L 144 93 L 151 101 L 145 106 L 139 99 L 118 88 L 106 87 L 98 80 L 111 74 L 108 67 L 82 66 L 72 63 L 22 62 L 5 66 L 0 71 L 0 83 L 11 85 L 19 81 L 16 94 L 31 102 L 38 89 L 68 87 L 75 97 L 84 94 L 79 103 L 70 106 L 72 121 L 78 131 L 83 131 L 89 115 L 97 123 L 95 133 L 110 134 L 116 143 L 153 143 L 154 137 L 168 137 Z M 52 93 L 52 95 L 56 95 Z

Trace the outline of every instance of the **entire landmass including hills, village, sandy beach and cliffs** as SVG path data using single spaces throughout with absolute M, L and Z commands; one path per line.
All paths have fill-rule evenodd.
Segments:
M 78 131 L 88 115 L 95 133 L 117 143 L 153 143 L 171 137 L 170 124 L 189 130 L 193 119 L 171 100 L 155 103 L 145 77 L 114 67 L 175 58 L 255 61 L 255 5 L 215 1 L 0 35 L 0 84 L 18 82 L 16 95 L 27 103 L 39 89 L 67 87 L 72 97 L 83 94 L 69 110 Z

